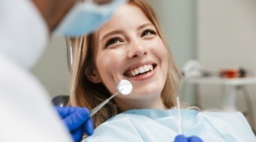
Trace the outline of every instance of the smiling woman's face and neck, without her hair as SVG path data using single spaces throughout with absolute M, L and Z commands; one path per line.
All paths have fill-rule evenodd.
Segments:
M 121 6 L 95 34 L 94 63 L 100 82 L 111 93 L 121 79 L 133 90 L 114 99 L 123 110 L 163 109 L 160 94 L 167 78 L 167 52 L 155 26 L 132 4 Z

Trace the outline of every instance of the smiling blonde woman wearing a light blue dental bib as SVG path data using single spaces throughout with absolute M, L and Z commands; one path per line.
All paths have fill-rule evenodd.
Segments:
M 121 79 L 133 85 L 130 95 L 117 95 L 93 116 L 97 129 L 85 141 L 174 140 L 178 135 L 178 111 L 172 108 L 177 106 L 181 75 L 159 21 L 145 0 L 130 0 L 96 32 L 71 41 L 75 50 L 72 106 L 91 110 L 117 91 Z M 240 114 L 224 115 L 226 126 L 239 120 L 244 122 L 243 126 L 238 124 L 239 129 L 249 128 Z M 222 113 L 183 110 L 182 116 L 184 134 L 188 136 L 198 135 L 205 141 L 255 140 L 250 130 L 243 137 L 232 131 L 220 137 L 218 124 L 211 127 L 208 122 L 219 122 L 216 118 Z M 237 119 L 225 121 L 234 116 Z

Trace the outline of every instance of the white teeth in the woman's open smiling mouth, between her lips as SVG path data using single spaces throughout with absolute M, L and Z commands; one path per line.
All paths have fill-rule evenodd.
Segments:
M 154 69 L 156 65 L 154 64 L 145 64 L 141 65 L 139 67 L 136 67 L 135 69 L 130 69 L 126 73 L 124 73 L 126 76 L 135 77 L 137 75 L 148 73 Z

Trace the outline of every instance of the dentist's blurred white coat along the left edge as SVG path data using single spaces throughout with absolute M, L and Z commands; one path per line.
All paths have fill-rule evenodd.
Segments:
M 48 42 L 30 0 L 0 0 L 0 141 L 70 142 L 50 96 L 29 71 Z

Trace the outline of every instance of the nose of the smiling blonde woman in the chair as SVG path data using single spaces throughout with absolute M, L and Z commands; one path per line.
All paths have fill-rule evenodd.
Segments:
M 147 54 L 147 49 L 145 45 L 140 43 L 140 41 L 136 40 L 130 44 L 128 58 L 142 57 L 145 54 Z

